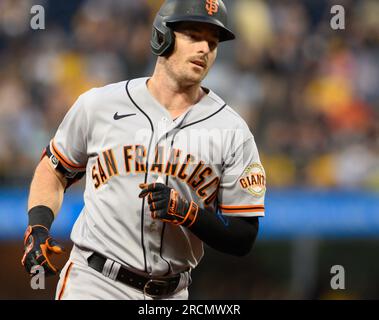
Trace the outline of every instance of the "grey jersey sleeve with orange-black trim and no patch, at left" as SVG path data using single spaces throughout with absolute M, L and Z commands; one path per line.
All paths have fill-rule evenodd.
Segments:
M 51 153 L 69 172 L 86 170 L 88 122 L 80 96 L 67 112 L 55 137 L 50 142 Z

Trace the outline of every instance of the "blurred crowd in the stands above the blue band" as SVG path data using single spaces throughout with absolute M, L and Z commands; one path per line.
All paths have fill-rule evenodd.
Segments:
M 157 0 L 0 1 L 0 186 L 25 185 L 84 91 L 148 76 Z M 205 81 L 251 127 L 270 187 L 379 188 L 379 1 L 226 0 Z M 45 8 L 45 30 L 30 8 Z

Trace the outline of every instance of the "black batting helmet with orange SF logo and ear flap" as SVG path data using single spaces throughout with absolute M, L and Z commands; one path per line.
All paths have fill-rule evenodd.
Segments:
M 153 23 L 151 51 L 167 54 L 175 42 L 172 24 L 195 21 L 213 24 L 220 29 L 220 42 L 235 39 L 228 29 L 227 10 L 222 0 L 166 0 Z

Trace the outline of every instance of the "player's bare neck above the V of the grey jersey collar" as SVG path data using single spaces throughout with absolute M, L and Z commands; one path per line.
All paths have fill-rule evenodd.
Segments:
M 154 98 L 164 106 L 173 118 L 185 113 L 205 95 L 200 84 L 181 86 L 167 75 L 154 72 L 147 83 Z

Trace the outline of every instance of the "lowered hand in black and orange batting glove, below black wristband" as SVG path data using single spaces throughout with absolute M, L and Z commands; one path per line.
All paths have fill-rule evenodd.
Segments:
M 51 263 L 52 253 L 60 254 L 63 247 L 53 238 L 44 226 L 28 226 L 24 236 L 24 256 L 21 263 L 32 274 L 34 266 L 42 266 L 46 276 L 55 275 L 58 269 Z

